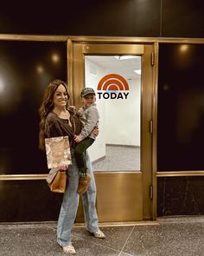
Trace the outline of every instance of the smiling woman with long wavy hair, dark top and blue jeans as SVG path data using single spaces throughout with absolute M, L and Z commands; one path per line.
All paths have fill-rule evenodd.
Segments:
M 73 148 L 76 145 L 73 137 L 80 134 L 81 124 L 72 108 L 68 107 L 68 99 L 66 82 L 56 79 L 49 83 L 40 108 L 40 148 L 45 148 L 44 139 L 46 137 L 69 136 L 72 165 L 61 164 L 60 166 L 62 171 L 67 170 L 68 185 L 61 204 L 57 225 L 57 242 L 62 247 L 64 253 L 74 254 L 76 252 L 71 241 L 71 229 L 79 204 L 79 195 L 77 194 L 79 170 L 77 169 L 73 154 Z M 96 238 L 105 238 L 105 234 L 99 230 L 98 226 L 98 216 L 95 208 L 96 186 L 88 154 L 86 154 L 86 161 L 88 174 L 91 176 L 89 187 L 86 193 L 82 195 L 86 229 L 93 233 Z

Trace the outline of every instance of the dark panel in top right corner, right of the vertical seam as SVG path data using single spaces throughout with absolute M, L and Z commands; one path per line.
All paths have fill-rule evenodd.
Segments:
M 202 0 L 162 0 L 163 37 L 204 37 Z

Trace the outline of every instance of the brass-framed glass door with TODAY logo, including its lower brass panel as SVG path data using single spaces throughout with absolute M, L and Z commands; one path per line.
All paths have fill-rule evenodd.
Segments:
M 141 44 L 73 44 L 73 103 L 80 108 L 80 90 L 91 87 L 100 115 L 88 150 L 100 221 L 151 219 L 152 51 Z

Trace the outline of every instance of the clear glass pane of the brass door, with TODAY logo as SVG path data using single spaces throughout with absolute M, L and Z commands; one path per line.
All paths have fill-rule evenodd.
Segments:
M 90 147 L 97 171 L 140 170 L 140 56 L 86 56 L 86 87 L 96 91 L 99 136 Z

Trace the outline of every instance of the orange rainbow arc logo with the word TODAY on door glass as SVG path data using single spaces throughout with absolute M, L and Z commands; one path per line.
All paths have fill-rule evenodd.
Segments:
M 129 92 L 121 92 L 121 91 L 128 91 L 129 90 L 129 84 L 124 79 L 122 75 L 118 74 L 109 74 L 105 75 L 98 84 L 97 87 L 99 99 L 102 97 L 104 99 L 127 99 L 127 96 L 129 95 Z M 117 92 L 116 91 L 120 91 Z

